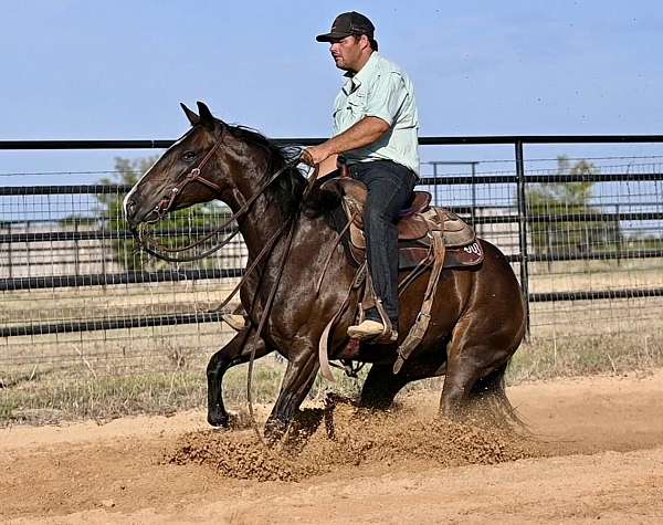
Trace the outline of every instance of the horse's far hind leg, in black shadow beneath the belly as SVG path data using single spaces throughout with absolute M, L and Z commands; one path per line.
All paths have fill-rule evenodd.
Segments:
M 393 364 L 372 365 L 364 382 L 359 405 L 387 410 L 408 382 L 444 375 L 445 360 L 444 350 L 434 355 L 413 356 L 403 364 L 399 374 L 393 374 Z

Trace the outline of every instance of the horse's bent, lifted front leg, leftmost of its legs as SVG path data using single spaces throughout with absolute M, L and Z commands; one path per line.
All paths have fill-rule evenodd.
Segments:
M 239 332 L 210 359 L 207 367 L 208 422 L 212 427 L 228 428 L 230 426 L 230 417 L 223 405 L 223 375 L 229 368 L 246 363 L 251 358 L 253 348 L 255 348 L 255 358 L 263 357 L 271 351 L 262 338 L 254 337 L 253 328 L 246 328 Z

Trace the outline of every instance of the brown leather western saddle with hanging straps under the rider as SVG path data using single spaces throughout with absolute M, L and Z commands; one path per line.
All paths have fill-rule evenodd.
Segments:
M 355 277 L 356 283 L 352 284 L 350 291 L 358 287 L 359 282 L 364 282 L 364 296 L 359 303 L 358 322 L 361 322 L 366 311 L 375 306 L 380 313 L 385 325 L 385 330 L 376 343 L 393 342 L 394 332 L 391 322 L 382 307 L 380 298 L 376 296 L 372 290 L 370 273 L 366 272 L 366 237 L 362 218 L 368 190 L 362 182 L 348 177 L 327 180 L 320 185 L 320 190 L 332 191 L 341 198 L 347 225 L 339 232 L 339 238 L 344 240 L 344 246 L 350 263 L 359 267 Z M 431 195 L 428 191 L 415 191 L 410 207 L 400 212 L 398 222 L 399 270 L 411 270 L 400 281 L 399 293 L 402 293 L 410 283 L 429 267 L 431 274 L 417 321 L 398 347 L 398 357 L 393 365 L 394 374 L 400 371 L 406 359 L 423 340 L 431 319 L 430 313 L 442 270 L 476 266 L 483 262 L 484 258 L 483 250 L 472 227 L 452 211 L 432 207 L 430 203 Z M 345 235 L 347 230 L 349 230 L 349 235 Z M 360 277 L 362 274 L 366 275 L 365 280 Z M 329 368 L 328 338 L 334 326 L 347 308 L 348 302 L 349 292 L 344 305 L 327 324 L 320 338 L 320 372 L 332 381 L 334 377 Z

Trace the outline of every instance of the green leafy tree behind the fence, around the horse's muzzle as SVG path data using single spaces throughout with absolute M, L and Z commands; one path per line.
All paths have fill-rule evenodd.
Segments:
M 158 157 L 146 157 L 129 160 L 122 157 L 115 158 L 115 177 L 103 178 L 99 180 L 102 185 L 130 185 L 134 186 L 138 179 L 145 174 L 156 161 Z M 102 229 L 113 232 L 127 232 L 127 225 L 124 219 L 124 192 L 97 195 L 96 199 L 99 202 L 99 218 Z M 225 221 L 229 217 L 229 211 L 218 202 L 208 202 L 197 207 L 193 213 L 191 209 L 179 210 L 168 214 L 167 220 L 159 224 L 155 232 L 159 242 L 165 246 L 183 246 L 196 240 L 196 231 L 206 227 L 210 227 L 219 221 Z M 213 222 L 212 222 L 213 221 Z M 190 231 L 191 234 L 182 233 L 178 235 L 160 237 L 161 231 Z M 169 263 L 148 258 L 144 252 L 136 250 L 134 239 L 117 239 L 112 241 L 112 250 L 115 260 L 123 265 L 127 271 L 155 271 L 169 267 Z M 204 265 L 206 262 L 199 263 Z M 209 262 L 207 264 L 210 264 Z

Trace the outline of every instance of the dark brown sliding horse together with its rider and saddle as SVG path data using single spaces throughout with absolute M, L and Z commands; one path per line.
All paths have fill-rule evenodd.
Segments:
M 238 232 L 246 243 L 244 276 L 227 301 L 239 292 L 251 322 L 210 359 L 208 421 L 230 426 L 222 388 L 228 369 L 272 351 L 287 368 L 265 422 L 271 439 L 287 430 L 318 371 L 333 378 L 332 360 L 350 369 L 371 364 L 360 396 L 366 407 L 388 408 L 409 382 L 444 375 L 441 413 L 462 416 L 491 400 L 497 412 L 513 414 L 504 375 L 525 334 L 526 315 L 508 260 L 473 231 L 466 235 L 456 216 L 430 207 L 430 195 L 410 202 L 419 161 L 412 84 L 378 55 L 372 23 L 344 13 L 318 40 L 330 42 L 347 81 L 336 98 L 335 136 L 303 157 L 325 176 L 334 175 L 343 154 L 351 178 L 306 181 L 296 166 L 299 156 L 224 123 L 199 102 L 198 114 L 182 105 L 191 128 L 124 201 L 137 242 L 167 261 L 207 256 Z M 213 248 L 178 258 L 149 234 L 147 225 L 169 212 L 212 200 L 225 202 L 232 217 L 186 249 L 235 223 Z M 397 232 L 404 207 L 410 209 Z M 399 238 L 404 243 L 397 252 Z M 365 245 L 370 272 L 364 271 Z M 356 321 L 373 305 L 377 312 Z M 401 334 L 391 340 L 399 316 Z

